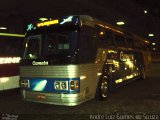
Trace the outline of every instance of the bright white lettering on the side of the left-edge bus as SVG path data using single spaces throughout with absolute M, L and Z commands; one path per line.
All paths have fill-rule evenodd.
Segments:
M 20 57 L 0 57 L 0 64 L 15 64 L 19 63 Z

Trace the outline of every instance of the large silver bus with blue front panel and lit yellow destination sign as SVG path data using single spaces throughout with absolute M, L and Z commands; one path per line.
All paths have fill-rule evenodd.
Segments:
M 22 98 L 66 106 L 104 100 L 122 83 L 146 78 L 148 44 L 88 15 L 29 24 L 20 62 Z

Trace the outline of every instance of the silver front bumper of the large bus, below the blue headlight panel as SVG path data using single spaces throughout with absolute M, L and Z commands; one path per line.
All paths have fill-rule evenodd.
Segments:
M 44 92 L 34 92 L 27 90 L 22 90 L 21 93 L 25 101 L 38 102 L 38 103 L 75 106 L 85 102 L 85 95 L 83 93 L 77 93 L 77 94 L 44 93 Z

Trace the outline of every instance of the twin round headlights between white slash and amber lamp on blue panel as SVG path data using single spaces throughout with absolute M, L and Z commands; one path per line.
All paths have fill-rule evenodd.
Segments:
M 68 90 L 68 81 L 55 81 L 54 89 L 55 90 Z

